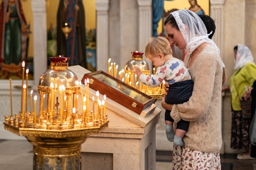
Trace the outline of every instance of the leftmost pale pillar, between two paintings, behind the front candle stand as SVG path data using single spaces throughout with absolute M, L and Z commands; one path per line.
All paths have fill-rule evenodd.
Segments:
M 34 35 L 34 86 L 37 90 L 40 75 L 47 69 L 47 1 L 32 0 Z

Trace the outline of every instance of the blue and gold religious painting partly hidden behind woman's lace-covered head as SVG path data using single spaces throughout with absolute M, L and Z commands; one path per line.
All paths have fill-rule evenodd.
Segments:
M 152 0 L 153 11 L 153 37 L 165 37 L 164 20 L 176 10 L 192 10 L 198 15 L 209 15 L 209 0 Z M 184 60 L 185 53 L 177 47 L 172 46 L 173 56 Z

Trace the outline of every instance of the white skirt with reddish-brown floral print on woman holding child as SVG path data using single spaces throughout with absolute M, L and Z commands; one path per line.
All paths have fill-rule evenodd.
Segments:
M 172 170 L 220 170 L 219 151 L 201 152 L 188 147 L 173 147 Z

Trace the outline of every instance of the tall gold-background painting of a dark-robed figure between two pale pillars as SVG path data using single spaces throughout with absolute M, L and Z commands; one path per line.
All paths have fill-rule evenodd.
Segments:
M 95 0 L 47 1 L 47 56 L 71 58 L 69 66 L 96 70 Z

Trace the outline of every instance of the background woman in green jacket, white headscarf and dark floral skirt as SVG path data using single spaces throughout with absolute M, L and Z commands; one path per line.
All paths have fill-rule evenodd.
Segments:
M 241 102 L 250 98 L 253 82 L 256 80 L 256 65 L 251 50 L 243 44 L 234 47 L 234 58 L 235 72 L 229 80 L 232 107 L 231 148 L 246 150 L 245 153 L 238 154 L 237 159 L 253 159 L 250 157 L 249 140 L 251 108 L 242 109 Z

